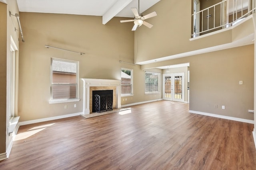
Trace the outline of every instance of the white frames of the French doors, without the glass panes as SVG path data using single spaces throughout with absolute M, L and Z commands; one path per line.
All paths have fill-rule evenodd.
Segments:
M 171 76 L 171 80 L 172 80 L 172 98 L 165 98 L 165 76 Z M 175 76 L 182 76 L 182 99 L 175 99 L 174 95 L 175 95 L 175 90 L 174 90 L 174 81 L 175 81 Z M 174 102 L 185 102 L 185 73 L 184 72 L 180 72 L 180 73 L 168 73 L 168 74 L 163 74 L 163 100 L 169 100 L 169 101 L 174 101 Z

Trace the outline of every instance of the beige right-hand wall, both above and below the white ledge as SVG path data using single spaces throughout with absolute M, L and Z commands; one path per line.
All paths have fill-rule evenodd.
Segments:
M 161 0 L 145 12 L 155 10 L 158 16 L 149 21 L 154 27 L 140 27 L 135 32 L 136 62 L 237 41 L 254 33 L 253 21 L 250 19 L 234 29 L 189 41 L 190 2 Z M 184 13 L 178 17 L 179 11 Z M 253 120 L 254 115 L 248 113 L 248 109 L 254 109 L 253 57 L 254 47 L 247 45 L 146 64 L 142 69 L 190 63 L 190 110 Z M 243 80 L 244 84 L 239 85 L 239 80 Z M 218 105 L 218 108 L 215 109 L 214 105 Z M 222 105 L 226 109 L 221 109 Z

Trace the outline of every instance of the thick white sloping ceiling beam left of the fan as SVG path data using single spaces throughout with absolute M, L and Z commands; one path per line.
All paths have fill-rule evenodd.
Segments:
M 118 0 L 103 16 L 102 23 L 105 25 L 110 21 L 116 14 L 118 14 L 122 9 L 124 9 L 132 0 Z

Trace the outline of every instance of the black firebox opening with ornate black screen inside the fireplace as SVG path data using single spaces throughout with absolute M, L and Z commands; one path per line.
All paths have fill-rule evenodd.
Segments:
M 92 99 L 92 112 L 113 110 L 113 90 L 94 90 Z

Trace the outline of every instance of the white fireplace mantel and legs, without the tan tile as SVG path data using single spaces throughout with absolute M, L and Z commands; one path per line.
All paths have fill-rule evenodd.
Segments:
M 116 108 L 121 108 L 121 80 L 81 78 L 83 88 L 83 114 L 90 114 L 90 87 L 116 87 Z

